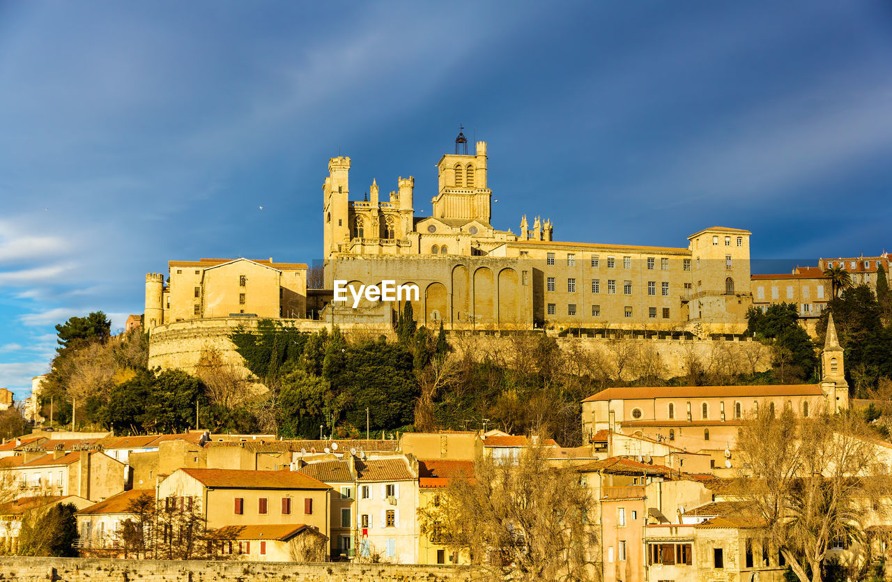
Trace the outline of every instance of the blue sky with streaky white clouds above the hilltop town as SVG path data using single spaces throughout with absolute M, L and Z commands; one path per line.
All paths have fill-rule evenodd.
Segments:
M 318 260 L 329 157 L 353 199 L 414 176 L 429 215 L 460 124 L 498 229 L 743 228 L 775 270 L 892 250 L 890 71 L 881 1 L 0 0 L 0 386 L 29 395 L 55 324 L 143 312 L 169 260 Z

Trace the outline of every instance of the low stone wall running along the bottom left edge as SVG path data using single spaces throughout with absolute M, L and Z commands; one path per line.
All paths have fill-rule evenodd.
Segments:
M 0 558 L 0 579 L 16 582 L 446 582 L 467 580 L 466 570 L 401 564 L 293 563 L 273 561 L 154 561 L 85 558 Z

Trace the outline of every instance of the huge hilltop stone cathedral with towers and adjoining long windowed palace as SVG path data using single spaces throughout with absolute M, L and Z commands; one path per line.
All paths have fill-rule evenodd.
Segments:
M 414 283 L 419 323 L 445 328 L 678 329 L 739 332 L 752 304 L 749 236 L 711 228 L 684 247 L 553 240 L 524 216 L 519 234 L 491 225 L 486 143 L 446 154 L 429 217 L 415 215 L 415 180 L 389 199 L 351 202 L 350 158 L 332 158 L 323 186 L 326 286 Z M 382 256 L 383 255 L 383 256 Z

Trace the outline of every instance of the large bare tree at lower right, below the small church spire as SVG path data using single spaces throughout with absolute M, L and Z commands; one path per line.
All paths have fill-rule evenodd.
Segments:
M 852 565 L 863 564 L 865 529 L 888 517 L 889 485 L 863 420 L 760 409 L 739 429 L 739 511 L 764 525 L 765 547 L 777 548 L 801 582 L 820 582 L 835 539 Z

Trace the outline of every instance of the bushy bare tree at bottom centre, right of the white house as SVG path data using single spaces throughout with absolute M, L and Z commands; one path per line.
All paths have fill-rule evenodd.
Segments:
M 474 477 L 454 478 L 439 505 L 418 511 L 421 530 L 469 552 L 488 580 L 592 580 L 595 501 L 579 473 L 546 461 L 541 445 L 508 459 L 478 458 Z

